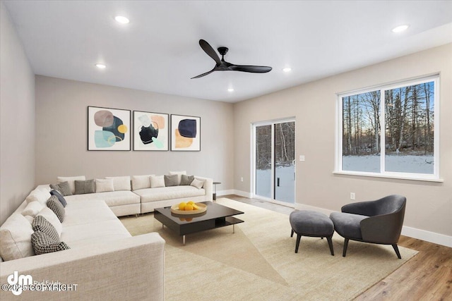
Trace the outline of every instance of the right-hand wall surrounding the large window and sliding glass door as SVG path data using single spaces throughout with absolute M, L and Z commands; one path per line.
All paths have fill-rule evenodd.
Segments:
M 333 174 L 336 93 L 441 73 L 440 173 L 444 183 Z M 343 204 L 397 193 L 408 205 L 405 226 L 452 236 L 452 44 L 353 70 L 234 104 L 234 188 L 251 192 L 250 124 L 296 116 L 297 207 L 340 211 Z M 241 182 L 240 177 L 244 177 Z M 426 232 L 427 231 L 427 232 Z M 425 237 L 422 236 L 422 237 Z M 450 243 L 450 242 L 449 242 Z

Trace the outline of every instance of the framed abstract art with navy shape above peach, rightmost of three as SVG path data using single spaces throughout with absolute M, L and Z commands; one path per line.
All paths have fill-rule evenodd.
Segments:
M 171 150 L 201 151 L 201 117 L 171 115 Z

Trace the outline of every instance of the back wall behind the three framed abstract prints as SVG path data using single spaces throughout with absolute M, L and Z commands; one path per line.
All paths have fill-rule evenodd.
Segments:
M 87 150 L 88 106 L 201 117 L 201 152 Z M 36 184 L 187 171 L 232 189 L 233 106 L 225 102 L 36 76 Z M 132 147 L 133 149 L 133 147 Z

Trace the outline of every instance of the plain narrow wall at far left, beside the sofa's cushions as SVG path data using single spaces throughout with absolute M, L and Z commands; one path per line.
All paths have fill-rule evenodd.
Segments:
M 0 3 L 0 224 L 35 184 L 35 75 Z

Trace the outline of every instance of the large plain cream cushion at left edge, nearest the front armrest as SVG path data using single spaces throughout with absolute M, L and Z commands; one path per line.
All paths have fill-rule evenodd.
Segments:
M 32 233 L 31 223 L 22 214 L 11 214 L 0 227 L 0 257 L 7 261 L 35 254 Z

